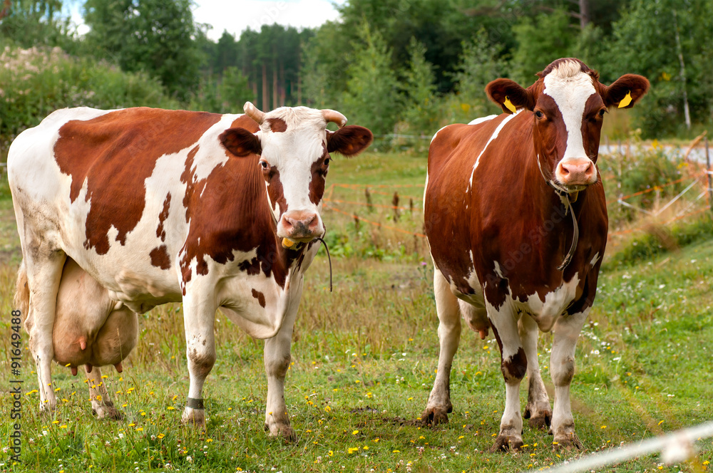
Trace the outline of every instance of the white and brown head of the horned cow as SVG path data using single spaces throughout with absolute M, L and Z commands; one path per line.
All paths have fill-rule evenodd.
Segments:
M 264 113 L 245 103 L 245 113 L 260 125 L 252 133 L 245 128 L 222 132 L 220 142 L 233 155 L 260 155 L 258 162 L 265 178 L 267 197 L 277 222 L 277 236 L 307 242 L 324 234 L 319 211 L 322 208 L 329 152 L 358 155 L 371 144 L 371 131 L 344 126 L 347 118 L 334 110 L 282 107 Z M 327 123 L 339 130 L 327 130 Z

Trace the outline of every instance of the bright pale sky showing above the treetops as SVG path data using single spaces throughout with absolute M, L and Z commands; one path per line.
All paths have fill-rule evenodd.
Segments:
M 194 0 L 193 19 L 209 24 L 208 38 L 217 41 L 223 31 L 240 38 L 247 28 L 260 30 L 260 26 L 280 24 L 295 28 L 314 28 L 326 21 L 336 20 L 339 13 L 334 5 L 347 0 Z M 88 31 L 82 20 L 83 1 L 70 4 L 72 20 L 77 31 Z

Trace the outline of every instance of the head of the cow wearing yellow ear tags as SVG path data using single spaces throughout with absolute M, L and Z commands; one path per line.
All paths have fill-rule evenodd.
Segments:
M 558 59 L 528 88 L 510 79 L 486 86 L 488 97 L 506 113 L 518 108 L 533 116 L 535 158 L 549 184 L 560 192 L 578 192 L 597 182 L 602 121 L 613 105 L 632 108 L 649 81 L 625 74 L 606 86 L 599 74 L 575 58 Z

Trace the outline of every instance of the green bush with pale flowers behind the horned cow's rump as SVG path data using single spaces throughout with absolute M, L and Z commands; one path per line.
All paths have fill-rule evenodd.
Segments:
M 26 128 L 64 107 L 178 108 L 145 73 L 125 73 L 106 62 L 68 56 L 60 48 L 0 51 L 0 157 Z

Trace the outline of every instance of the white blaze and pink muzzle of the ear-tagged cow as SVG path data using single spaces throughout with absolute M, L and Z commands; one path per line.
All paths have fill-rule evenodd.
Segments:
M 564 61 L 543 82 L 543 93 L 555 101 L 567 133 L 564 155 L 555 167 L 555 184 L 568 192 L 579 192 L 597 182 L 597 167 L 583 142 L 585 106 L 597 91 L 592 76 L 581 71 L 575 61 Z

